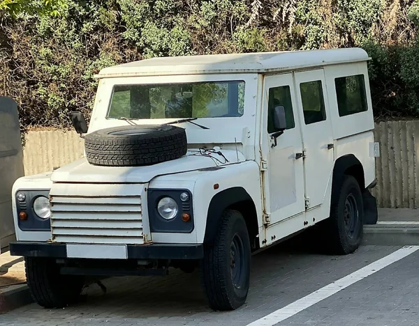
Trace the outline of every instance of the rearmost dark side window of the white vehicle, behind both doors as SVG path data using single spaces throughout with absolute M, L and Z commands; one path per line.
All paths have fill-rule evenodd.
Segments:
M 367 111 L 364 75 L 335 78 L 339 116 Z

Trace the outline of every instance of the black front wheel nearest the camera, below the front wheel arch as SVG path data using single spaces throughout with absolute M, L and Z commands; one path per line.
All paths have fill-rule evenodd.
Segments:
M 226 210 L 214 242 L 205 248 L 201 268 L 212 309 L 233 310 L 244 304 L 249 292 L 250 258 L 246 222 L 240 212 Z

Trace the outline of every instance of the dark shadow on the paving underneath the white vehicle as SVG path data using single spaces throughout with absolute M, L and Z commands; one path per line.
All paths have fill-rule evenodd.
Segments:
M 321 257 L 319 263 L 333 259 L 320 254 L 318 247 L 310 241 L 310 237 L 300 234 L 254 255 L 248 302 L 257 297 L 258 288 L 264 284 L 266 275 L 277 280 L 289 279 L 290 274 L 298 273 L 300 267 L 297 265 L 303 266 L 301 272 L 304 272 L 312 263 L 313 255 Z M 207 306 L 198 270 L 186 274 L 171 269 L 168 277 L 114 277 L 103 280 L 103 284 L 107 288 L 106 293 L 97 284 L 91 284 L 83 291 L 79 304 L 66 308 L 67 313 L 82 309 L 82 314 L 98 318 L 108 315 L 113 318 L 153 318 L 212 312 Z M 247 309 L 247 306 L 245 304 L 241 309 Z

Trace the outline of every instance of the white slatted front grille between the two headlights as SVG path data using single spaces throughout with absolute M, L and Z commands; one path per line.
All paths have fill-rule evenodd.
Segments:
M 89 185 L 97 186 L 97 185 Z M 71 187 L 68 185 L 68 187 Z M 95 187 L 96 188 L 96 187 Z M 142 244 L 142 206 L 139 194 L 105 195 L 103 187 L 89 194 L 50 192 L 53 242 Z M 102 193 L 103 192 L 103 193 Z

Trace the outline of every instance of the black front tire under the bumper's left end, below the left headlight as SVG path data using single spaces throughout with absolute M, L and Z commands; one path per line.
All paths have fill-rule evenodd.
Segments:
M 34 301 L 45 308 L 62 308 L 77 302 L 84 277 L 62 275 L 51 258 L 26 257 L 27 284 Z

